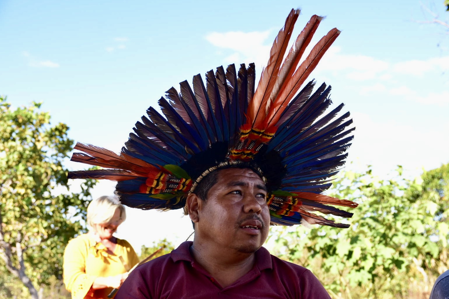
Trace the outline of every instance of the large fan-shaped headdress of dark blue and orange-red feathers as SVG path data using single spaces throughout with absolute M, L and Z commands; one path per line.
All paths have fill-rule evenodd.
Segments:
M 346 228 L 321 215 L 351 217 L 334 205 L 357 203 L 320 194 L 343 166 L 353 136 L 343 107 L 327 111 L 330 86 L 314 81 L 300 90 L 340 31 L 329 31 L 301 62 L 321 17 L 314 15 L 286 54 L 299 10 L 292 9 L 270 51 L 259 83 L 255 66 L 233 64 L 200 75 L 161 97 L 162 114 L 153 107 L 137 122 L 120 154 L 77 143 L 72 161 L 107 169 L 71 171 L 71 179 L 118 181 L 116 193 L 129 207 L 178 209 L 186 196 L 213 170 L 247 163 L 269 189 L 273 224 L 309 224 Z M 301 62 L 301 63 L 299 63 Z M 332 206 L 329 206 L 332 205 Z

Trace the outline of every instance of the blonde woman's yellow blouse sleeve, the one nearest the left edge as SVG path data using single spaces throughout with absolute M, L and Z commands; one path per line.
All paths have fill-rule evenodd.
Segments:
M 83 242 L 71 240 L 64 250 L 63 277 L 66 289 L 73 299 L 83 299 L 90 290 L 95 276 L 86 274 L 87 248 Z

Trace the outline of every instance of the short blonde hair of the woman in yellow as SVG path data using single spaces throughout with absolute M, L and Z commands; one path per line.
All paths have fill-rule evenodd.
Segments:
M 117 209 L 120 210 L 120 225 L 126 219 L 126 211 L 117 198 L 101 196 L 92 200 L 87 207 L 87 224 L 92 228 L 95 224 L 105 224 L 112 219 Z

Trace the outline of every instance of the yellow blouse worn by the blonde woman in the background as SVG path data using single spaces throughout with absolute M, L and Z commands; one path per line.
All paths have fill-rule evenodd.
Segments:
M 126 240 L 117 239 L 114 254 L 109 254 L 102 243 L 86 233 L 72 240 L 64 251 L 64 284 L 73 299 L 105 298 L 112 288 L 90 290 L 97 277 L 114 276 L 128 272 L 139 258 Z M 90 291 L 89 291 L 90 290 Z

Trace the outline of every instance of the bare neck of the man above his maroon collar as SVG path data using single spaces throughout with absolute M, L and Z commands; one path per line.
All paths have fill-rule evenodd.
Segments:
M 196 246 L 195 246 L 196 245 Z M 254 253 L 216 252 L 198 243 L 190 247 L 194 260 L 222 287 L 230 286 L 254 266 Z

